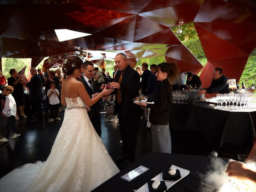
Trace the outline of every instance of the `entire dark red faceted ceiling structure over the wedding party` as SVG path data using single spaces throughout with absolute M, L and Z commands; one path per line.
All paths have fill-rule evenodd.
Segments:
M 64 59 L 74 53 L 100 50 L 124 52 L 132 66 L 138 58 L 165 56 L 167 62 L 178 64 L 181 72 L 198 73 L 203 66 L 170 29 L 181 22 L 194 22 L 208 59 L 200 75 L 204 82 L 206 72 L 214 66 L 222 66 L 227 74 L 227 68 L 238 65 L 232 74 L 240 78 L 256 46 L 255 0 L 25 2 L 0 1 L 0 56 L 32 58 L 32 66 L 46 56 Z M 58 29 L 87 36 L 59 42 Z

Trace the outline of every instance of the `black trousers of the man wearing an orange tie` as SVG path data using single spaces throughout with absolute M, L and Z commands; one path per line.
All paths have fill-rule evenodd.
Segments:
M 118 106 L 119 128 L 122 138 L 122 155 L 124 158 L 134 160 L 134 152 L 136 149 L 137 131 L 140 124 L 140 107 L 138 111 L 127 112 L 122 105 Z

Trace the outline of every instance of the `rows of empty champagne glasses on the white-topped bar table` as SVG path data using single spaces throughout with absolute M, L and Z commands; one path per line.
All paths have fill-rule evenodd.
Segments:
M 228 93 L 216 95 L 218 108 L 253 108 L 256 105 L 255 93 Z

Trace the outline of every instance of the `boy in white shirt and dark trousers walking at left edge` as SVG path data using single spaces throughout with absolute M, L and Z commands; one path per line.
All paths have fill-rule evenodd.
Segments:
M 16 128 L 15 124 L 15 117 L 16 117 L 16 102 L 14 100 L 14 97 L 12 96 L 13 92 L 13 86 L 5 86 L 3 90 L 3 94 L 6 95 L 4 109 L 2 111 L 2 116 L 7 117 L 7 124 L 6 124 L 6 134 L 4 138 L 0 139 L 2 142 L 8 142 L 9 141 L 9 134 L 11 131 L 11 128 L 14 130 L 14 134 L 12 135 L 12 139 L 19 137 L 20 132 Z

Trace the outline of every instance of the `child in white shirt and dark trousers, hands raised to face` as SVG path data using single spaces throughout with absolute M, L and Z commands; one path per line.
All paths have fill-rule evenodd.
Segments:
M 55 88 L 55 82 L 50 82 L 50 89 L 47 91 L 47 97 L 49 98 L 50 104 L 50 122 L 53 122 L 53 117 L 55 116 L 56 120 L 61 120 L 58 116 L 58 104 L 60 103 L 58 99 L 59 91 Z M 54 111 L 54 115 L 53 115 Z

